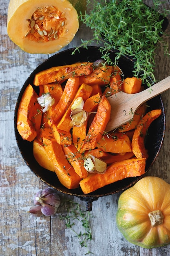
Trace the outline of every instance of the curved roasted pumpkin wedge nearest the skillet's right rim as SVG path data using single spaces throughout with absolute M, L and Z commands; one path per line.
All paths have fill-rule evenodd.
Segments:
M 132 152 L 137 158 L 148 158 L 148 150 L 145 148 L 144 140 L 146 133 L 152 121 L 161 115 L 161 109 L 155 109 L 148 112 L 137 125 L 132 137 Z

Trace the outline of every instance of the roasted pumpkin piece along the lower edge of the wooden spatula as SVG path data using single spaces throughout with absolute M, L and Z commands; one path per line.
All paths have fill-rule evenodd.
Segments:
M 135 115 L 133 116 L 132 121 L 118 128 L 119 132 L 127 132 L 129 130 L 135 129 L 139 121 L 144 117 L 145 113 L 146 113 L 146 103 L 142 104 L 137 109 L 137 111 L 135 112 Z

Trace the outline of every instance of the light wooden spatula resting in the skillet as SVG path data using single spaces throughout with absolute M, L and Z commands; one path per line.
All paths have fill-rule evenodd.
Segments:
M 155 85 L 152 85 L 152 87 L 148 87 L 142 92 L 135 94 L 117 92 L 116 94 L 108 97 L 107 99 L 111 105 L 111 115 L 105 131 L 109 132 L 123 124 L 126 124 L 128 121 L 132 120 L 135 111 L 142 103 L 168 89 L 170 89 L 170 76 L 159 81 Z

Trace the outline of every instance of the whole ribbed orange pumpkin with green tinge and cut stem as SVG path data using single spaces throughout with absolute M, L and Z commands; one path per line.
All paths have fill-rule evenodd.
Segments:
M 170 243 L 170 184 L 144 177 L 118 201 L 117 227 L 132 244 L 161 247 Z

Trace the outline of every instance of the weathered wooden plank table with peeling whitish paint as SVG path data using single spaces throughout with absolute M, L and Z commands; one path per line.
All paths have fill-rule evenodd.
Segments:
M 82 256 L 88 250 L 94 256 L 170 255 L 170 245 L 143 249 L 128 243 L 122 236 L 115 223 L 119 193 L 93 202 L 92 240 L 88 241 L 88 248 L 81 247 L 74 232 L 65 226 L 65 220 L 60 220 L 61 213 L 67 211 L 64 206 L 52 217 L 35 218 L 28 213 L 34 194 L 47 186 L 33 175 L 20 155 L 13 128 L 14 109 L 24 81 L 49 56 L 27 54 L 11 42 L 6 28 L 8 4 L 9 0 L 0 0 L 0 256 Z M 170 7 L 168 2 L 167 7 Z M 170 33 L 170 26 L 166 32 Z M 64 49 L 79 45 L 80 38 L 88 36 L 91 31 L 82 26 Z M 165 37 L 165 40 L 170 38 Z M 163 55 L 163 47 L 159 46 L 156 78 L 161 80 L 170 75 L 169 70 L 170 58 Z M 162 98 L 166 109 L 166 136 L 161 153 L 148 174 L 170 183 L 170 91 L 163 93 Z M 61 193 L 59 195 L 62 197 Z M 85 209 L 84 201 L 68 199 L 79 202 Z M 75 221 L 74 228 L 79 233 L 81 222 Z

